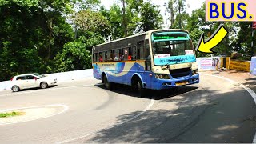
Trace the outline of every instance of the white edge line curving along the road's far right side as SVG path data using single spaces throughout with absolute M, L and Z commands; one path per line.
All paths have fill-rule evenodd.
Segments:
M 220 76 L 217 76 L 217 75 L 212 75 L 212 74 L 202 74 L 202 75 L 206 75 L 206 76 L 211 76 L 211 77 L 216 77 L 216 78 L 222 78 L 222 79 L 225 79 L 226 81 L 229 81 L 229 82 L 234 82 L 234 83 L 238 83 L 238 82 L 235 82 L 234 80 L 231 80 L 229 78 L 225 78 L 225 77 L 220 77 Z M 254 90 L 251 90 L 249 87 L 243 85 L 242 83 L 239 83 L 239 86 L 241 86 L 243 89 L 245 89 L 252 98 L 254 98 L 254 102 L 255 102 L 255 105 L 256 105 L 256 94 L 254 92 Z M 253 140 L 253 143 L 256 143 L 256 133 L 254 134 L 254 140 Z

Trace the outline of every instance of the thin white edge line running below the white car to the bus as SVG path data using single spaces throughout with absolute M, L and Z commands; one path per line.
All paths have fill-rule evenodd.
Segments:
M 76 88 L 76 87 L 82 87 L 82 86 L 102 86 L 102 85 L 103 85 L 102 83 L 98 83 L 98 84 L 92 84 L 92 85 L 65 86 L 65 87 L 57 87 L 57 88 L 50 87 L 48 89 L 42 89 L 42 90 L 30 90 L 30 91 L 22 91 L 22 92 L 20 91 L 20 92 L 14 93 L 14 94 L 2 94 L 2 95 L 0 95 L 0 98 L 7 97 L 7 96 L 16 96 L 19 94 L 37 93 L 38 91 L 44 91 L 44 90 L 62 90 L 62 89 Z

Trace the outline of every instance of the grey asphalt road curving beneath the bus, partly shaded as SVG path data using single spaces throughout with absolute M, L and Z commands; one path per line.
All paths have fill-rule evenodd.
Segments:
M 87 78 L 46 90 L 0 92 L 0 110 L 62 104 L 62 114 L 0 125 L 1 143 L 252 142 L 256 107 L 236 83 L 201 75 L 178 92 L 150 90 L 138 98 L 129 86 L 105 90 Z

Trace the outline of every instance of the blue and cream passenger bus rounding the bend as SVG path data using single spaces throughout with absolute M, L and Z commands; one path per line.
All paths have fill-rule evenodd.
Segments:
M 195 51 L 186 30 L 150 30 L 94 46 L 94 78 L 106 89 L 113 83 L 162 90 L 199 82 Z

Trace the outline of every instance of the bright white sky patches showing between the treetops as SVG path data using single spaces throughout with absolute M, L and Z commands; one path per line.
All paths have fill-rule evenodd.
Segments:
M 110 6 L 117 0 L 101 0 L 102 5 L 106 7 L 106 9 L 109 9 Z M 168 2 L 168 0 L 151 0 L 151 3 L 154 5 L 159 5 L 162 17 L 164 18 L 165 27 L 168 27 L 167 18 L 168 15 L 165 14 L 166 8 L 164 7 L 165 2 Z M 192 10 L 196 10 L 202 6 L 202 3 L 205 2 L 205 0 L 186 0 L 186 11 L 188 14 L 191 15 Z

